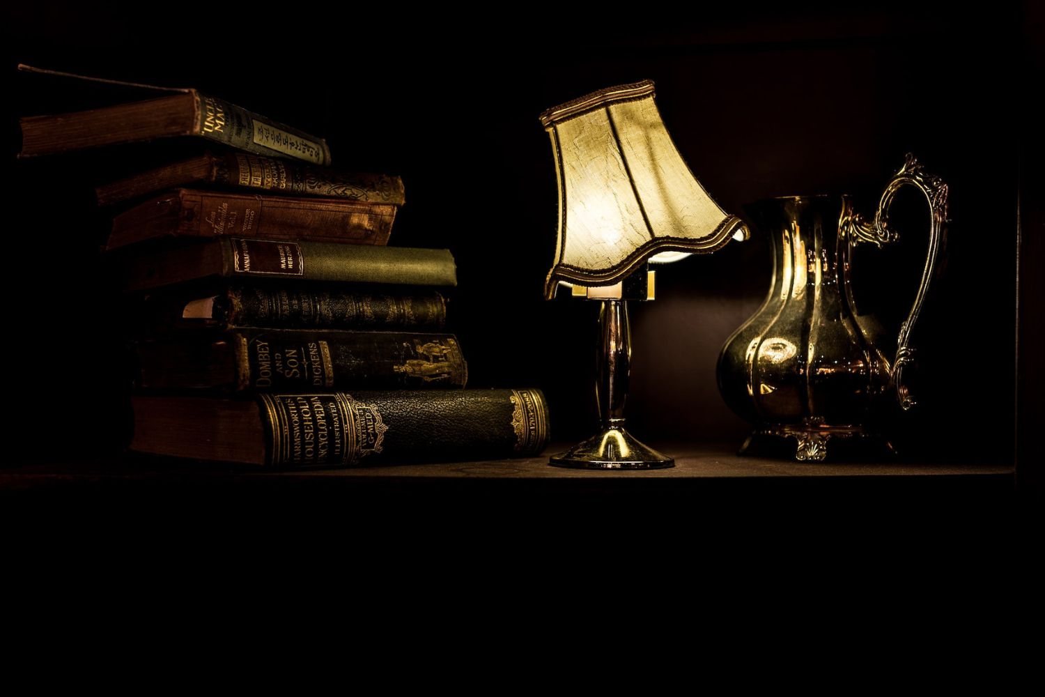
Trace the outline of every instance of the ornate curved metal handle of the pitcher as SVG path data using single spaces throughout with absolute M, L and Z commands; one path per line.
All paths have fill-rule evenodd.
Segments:
M 925 269 L 922 271 L 922 282 L 919 285 L 910 313 L 900 325 L 900 335 L 897 339 L 897 357 L 892 362 L 892 372 L 889 375 L 889 380 L 897 390 L 897 399 L 900 401 L 901 409 L 904 410 L 908 410 L 916 403 L 904 380 L 904 368 L 914 362 L 915 350 L 911 346 L 911 332 L 914 329 L 914 323 L 918 322 L 919 313 L 922 311 L 922 304 L 929 291 L 929 282 L 935 274 L 942 250 L 947 242 L 947 183 L 938 177 L 926 173 L 922 168 L 922 163 L 908 153 L 904 166 L 885 185 L 874 223 L 857 220 L 853 229 L 854 243 L 870 242 L 881 247 L 883 243 L 893 241 L 897 238 L 897 233 L 889 227 L 889 206 L 892 204 L 892 198 L 897 191 L 906 185 L 913 186 L 925 194 L 929 204 L 931 220 L 929 225 L 929 253 L 926 256 Z

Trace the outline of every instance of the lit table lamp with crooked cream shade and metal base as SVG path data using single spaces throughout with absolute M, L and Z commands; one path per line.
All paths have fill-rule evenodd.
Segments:
M 748 231 L 690 171 L 653 101 L 653 83 L 610 87 L 540 115 L 552 139 L 559 234 L 544 297 L 559 285 L 600 300 L 596 397 L 601 432 L 550 464 L 596 469 L 673 467 L 624 428 L 630 376 L 628 300 L 653 299 L 647 262 L 721 249 Z

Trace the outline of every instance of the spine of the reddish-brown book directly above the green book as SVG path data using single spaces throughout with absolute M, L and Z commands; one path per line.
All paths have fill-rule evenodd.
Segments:
M 350 201 L 324 202 L 282 196 L 262 196 L 182 189 L 178 233 L 217 235 L 289 236 L 385 245 L 392 234 L 396 207 Z M 120 219 L 113 230 L 121 229 Z

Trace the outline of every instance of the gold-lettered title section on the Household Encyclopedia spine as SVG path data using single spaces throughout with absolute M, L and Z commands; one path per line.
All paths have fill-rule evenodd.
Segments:
M 380 412 L 351 395 L 261 395 L 258 400 L 272 466 L 350 466 L 384 447 L 388 426 Z

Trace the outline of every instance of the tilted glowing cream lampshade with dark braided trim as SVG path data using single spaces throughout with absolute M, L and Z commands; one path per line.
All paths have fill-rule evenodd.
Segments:
M 540 115 L 552 139 L 559 235 L 544 295 L 560 282 L 606 285 L 653 255 L 707 253 L 737 232 L 687 166 L 653 101 L 653 83 L 610 87 Z M 655 261 L 655 259 L 654 259 Z

